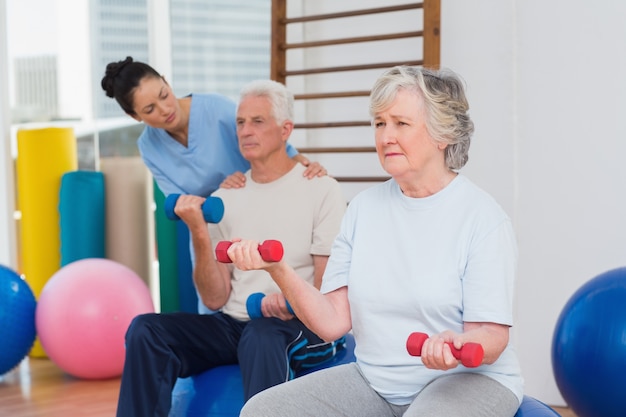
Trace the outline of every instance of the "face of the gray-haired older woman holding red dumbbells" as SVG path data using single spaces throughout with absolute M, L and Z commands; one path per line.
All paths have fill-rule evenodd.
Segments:
M 426 129 L 422 98 L 399 90 L 391 105 L 374 117 L 376 152 L 383 169 L 396 180 L 411 180 L 445 167 L 444 145 Z

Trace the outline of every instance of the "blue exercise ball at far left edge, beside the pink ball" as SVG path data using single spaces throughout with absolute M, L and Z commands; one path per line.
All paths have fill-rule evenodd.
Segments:
M 0 265 L 0 375 L 17 366 L 33 346 L 36 304 L 26 281 Z

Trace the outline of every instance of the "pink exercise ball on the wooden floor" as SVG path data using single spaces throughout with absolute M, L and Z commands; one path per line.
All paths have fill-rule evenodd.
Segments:
M 90 258 L 67 264 L 48 280 L 35 324 L 41 345 L 59 368 L 77 378 L 107 379 L 122 374 L 131 320 L 151 312 L 150 291 L 134 271 Z

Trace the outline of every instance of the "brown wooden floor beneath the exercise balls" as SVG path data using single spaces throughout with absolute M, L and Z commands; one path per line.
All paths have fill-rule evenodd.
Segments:
M 0 376 L 2 417 L 113 417 L 120 380 L 80 380 L 68 376 L 49 359 L 26 358 Z M 567 408 L 562 417 L 576 417 Z

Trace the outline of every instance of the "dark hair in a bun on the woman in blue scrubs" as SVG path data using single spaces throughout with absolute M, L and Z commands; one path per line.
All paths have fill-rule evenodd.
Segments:
M 160 78 L 150 65 L 133 61 L 128 56 L 123 61 L 111 62 L 107 65 L 100 85 L 108 97 L 114 98 L 122 110 L 134 116 L 133 92 L 141 80 L 147 77 Z

